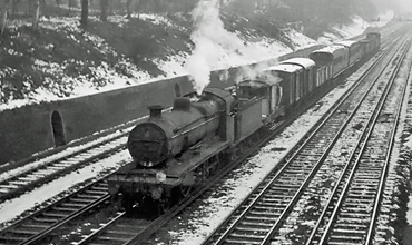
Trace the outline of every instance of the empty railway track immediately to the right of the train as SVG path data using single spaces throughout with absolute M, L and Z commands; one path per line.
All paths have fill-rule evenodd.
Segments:
M 385 66 L 394 60 L 386 61 Z M 369 79 L 363 78 L 365 82 L 342 100 L 298 149 L 281 163 L 281 169 L 269 174 L 205 244 L 269 244 L 273 241 L 356 111 L 362 109 L 361 101 L 373 100 L 369 98 L 370 91 L 380 91 L 384 84 L 367 85 Z

